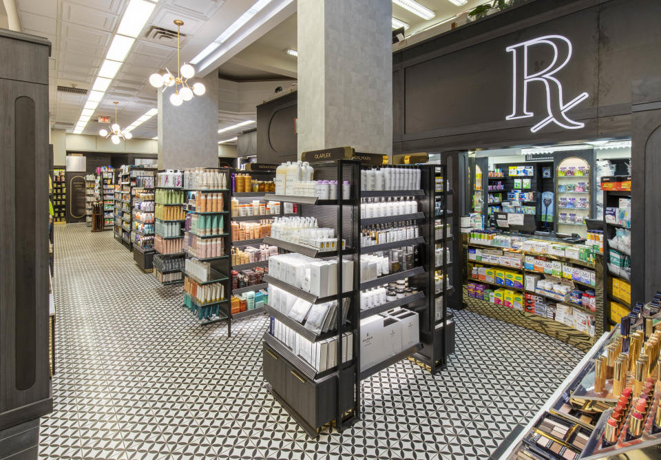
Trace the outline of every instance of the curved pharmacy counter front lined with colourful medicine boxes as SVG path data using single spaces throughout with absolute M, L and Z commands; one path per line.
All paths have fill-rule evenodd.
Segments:
M 474 230 L 464 235 L 468 303 L 479 313 L 533 328 L 587 350 L 609 328 L 602 241 Z

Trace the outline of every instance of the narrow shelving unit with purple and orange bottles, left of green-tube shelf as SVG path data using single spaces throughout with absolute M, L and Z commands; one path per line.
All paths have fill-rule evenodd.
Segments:
M 135 167 L 130 171 L 131 245 L 133 258 L 140 269 L 143 270 L 151 270 L 153 267 L 154 174 L 156 174 L 156 168 L 154 167 Z

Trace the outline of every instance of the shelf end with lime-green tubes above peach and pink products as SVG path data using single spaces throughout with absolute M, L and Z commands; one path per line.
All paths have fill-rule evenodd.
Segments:
M 182 270 L 184 268 L 183 238 L 181 224 L 184 222 L 183 205 L 185 191 L 182 186 L 162 186 L 158 183 L 158 174 L 164 170 L 156 171 L 154 187 L 154 278 L 164 286 L 184 282 Z M 176 194 L 175 200 L 173 198 Z M 169 196 L 169 198 L 168 198 Z M 161 225 L 176 228 L 174 233 L 161 233 Z M 165 228 L 165 227 L 164 227 Z M 171 246 L 175 246 L 172 249 Z

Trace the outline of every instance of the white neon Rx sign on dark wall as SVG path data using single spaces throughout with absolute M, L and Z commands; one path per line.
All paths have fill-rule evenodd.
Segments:
M 505 50 L 512 53 L 513 64 L 512 114 L 506 116 L 506 120 L 543 116 L 536 125 L 530 128 L 531 132 L 538 132 L 549 123 L 556 123 L 565 129 L 580 129 L 585 126 L 585 123 L 572 120 L 567 112 L 585 101 L 588 97 L 587 92 L 578 94 L 578 96 L 569 94 L 568 97 L 571 99 L 565 101 L 563 83 L 556 76 L 556 73 L 571 61 L 571 41 L 567 37 L 562 35 L 540 36 L 508 46 Z M 535 55 L 543 52 L 547 56 L 549 50 L 552 52 L 550 63 L 541 70 L 531 70 L 533 66 L 530 63 L 539 62 Z M 528 87 L 531 84 L 543 85 L 546 90 L 545 114 L 535 114 L 528 110 Z

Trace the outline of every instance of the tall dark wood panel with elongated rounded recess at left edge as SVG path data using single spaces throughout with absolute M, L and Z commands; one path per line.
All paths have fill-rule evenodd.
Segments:
M 34 39 L 0 34 L 0 428 L 52 409 L 48 85 L 34 83 L 48 83 L 48 51 Z

